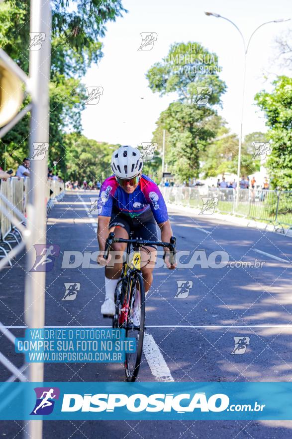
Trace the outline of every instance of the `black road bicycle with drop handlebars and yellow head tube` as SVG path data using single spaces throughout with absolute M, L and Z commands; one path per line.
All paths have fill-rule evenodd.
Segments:
M 114 233 L 110 232 L 105 242 L 104 259 L 108 258 L 110 247 L 114 242 L 126 243 L 127 249 L 126 260 L 123 262 L 121 277 L 114 294 L 115 315 L 110 317 L 112 317 L 113 328 L 124 328 L 126 338 L 133 337 L 136 341 L 135 352 L 125 353 L 126 380 L 131 382 L 135 381 L 138 376 L 145 331 L 145 290 L 141 272 L 140 248 L 147 245 L 167 247 L 170 252 L 170 263 L 175 263 L 176 237 L 172 236 L 170 242 L 146 241 L 133 239 L 133 232 L 130 233 L 129 239 L 115 238 Z M 131 246 L 133 247 L 132 253 Z

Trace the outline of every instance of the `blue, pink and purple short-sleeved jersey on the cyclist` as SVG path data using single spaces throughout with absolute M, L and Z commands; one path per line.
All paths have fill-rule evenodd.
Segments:
M 121 213 L 129 218 L 139 217 L 143 222 L 143 217 L 149 217 L 151 210 L 157 224 L 168 220 L 166 204 L 157 184 L 144 174 L 132 194 L 119 186 L 114 175 L 108 177 L 100 188 L 97 207 L 98 215 L 103 217 Z

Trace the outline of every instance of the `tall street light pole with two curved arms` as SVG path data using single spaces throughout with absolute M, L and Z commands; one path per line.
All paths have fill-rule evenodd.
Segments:
M 241 164 L 241 146 L 242 146 L 242 125 L 243 125 L 243 112 L 244 112 L 244 94 L 245 94 L 245 83 L 246 83 L 246 59 L 247 59 L 247 51 L 249 48 L 249 44 L 250 41 L 253 37 L 253 35 L 256 33 L 256 31 L 264 26 L 265 24 L 269 24 L 269 23 L 280 23 L 283 21 L 289 21 L 290 18 L 284 19 L 284 18 L 280 18 L 279 20 L 272 20 L 272 21 L 266 21 L 265 23 L 260 24 L 251 34 L 251 36 L 249 37 L 247 46 L 245 44 L 245 39 L 244 36 L 241 32 L 241 30 L 239 29 L 239 27 L 237 27 L 237 25 L 235 23 L 233 23 L 233 21 L 229 20 L 229 18 L 223 17 L 220 14 L 214 13 L 214 12 L 205 12 L 206 15 L 212 15 L 216 18 L 223 18 L 226 21 L 229 21 L 229 23 L 231 23 L 240 33 L 240 36 L 242 38 L 242 42 L 243 42 L 243 48 L 244 48 L 244 67 L 243 67 L 243 84 L 242 84 L 242 102 L 241 102 L 241 117 L 240 117 L 240 132 L 239 132 L 239 144 L 238 144 L 238 162 L 237 162 L 237 190 L 236 190 L 236 206 L 238 205 L 238 199 L 239 199 L 239 182 L 240 182 L 240 164 Z

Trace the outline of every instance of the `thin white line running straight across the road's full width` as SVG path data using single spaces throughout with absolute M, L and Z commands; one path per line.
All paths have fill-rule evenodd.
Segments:
M 5 326 L 2 328 L 7 329 L 28 329 L 28 326 Z M 55 326 L 49 325 L 44 328 L 112 328 L 111 325 L 86 325 L 86 326 Z M 292 328 L 292 325 L 147 325 L 146 330 L 149 328 Z

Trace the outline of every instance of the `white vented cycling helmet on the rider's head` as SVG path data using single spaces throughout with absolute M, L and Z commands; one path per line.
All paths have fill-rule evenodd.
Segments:
M 116 177 L 130 179 L 136 177 L 143 168 L 143 159 L 137 148 L 125 145 L 111 156 L 111 170 Z

